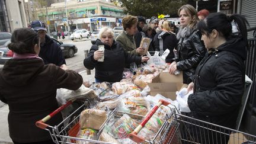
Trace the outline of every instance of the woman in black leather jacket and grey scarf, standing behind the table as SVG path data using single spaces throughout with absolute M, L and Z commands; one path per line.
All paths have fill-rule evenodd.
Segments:
M 196 9 L 192 5 L 183 5 L 178 9 L 181 28 L 178 31 L 177 58 L 169 66 L 169 73 L 183 71 L 183 82 L 189 84 L 196 67 L 203 59 L 206 49 L 201 39 L 201 33 L 196 25 L 199 21 Z

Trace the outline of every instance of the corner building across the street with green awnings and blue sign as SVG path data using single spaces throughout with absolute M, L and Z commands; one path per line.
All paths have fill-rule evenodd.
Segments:
M 46 14 L 47 11 L 47 14 Z M 68 24 L 66 18 L 68 15 Z M 103 26 L 114 27 L 125 16 L 123 8 L 103 0 L 71 0 L 37 10 L 39 20 L 48 22 L 50 31 L 70 31 L 76 28 L 96 30 Z

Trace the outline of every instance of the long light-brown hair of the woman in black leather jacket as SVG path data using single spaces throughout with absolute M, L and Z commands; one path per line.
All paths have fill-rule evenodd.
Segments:
M 188 27 L 190 28 L 195 28 L 196 24 L 199 22 L 199 18 L 197 17 L 197 11 L 192 5 L 183 5 L 178 9 L 178 15 L 180 16 L 180 11 L 184 9 L 184 11 L 188 14 L 191 15 L 192 21 L 190 24 L 188 24 Z M 183 28 L 183 26 L 181 26 Z

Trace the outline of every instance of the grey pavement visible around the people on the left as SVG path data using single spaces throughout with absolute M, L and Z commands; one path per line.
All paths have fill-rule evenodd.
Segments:
M 73 42 L 72 40 L 60 40 L 63 41 L 63 43 L 72 43 L 76 44 L 76 47 L 78 47 L 78 53 L 75 54 L 74 57 L 66 58 L 66 63 L 69 69 L 72 69 L 73 71 L 79 72 L 84 79 L 93 79 L 94 78 L 94 71 L 91 71 L 91 75 L 87 75 L 85 68 L 84 68 L 84 50 L 89 50 L 92 46 L 91 41 L 89 39 L 84 40 L 77 40 Z M 4 65 L 0 65 L 0 68 L 2 68 Z M 8 112 L 9 108 L 7 104 L 4 104 L 0 101 L 0 144 L 10 144 L 12 143 L 12 140 L 9 137 L 9 130 L 8 130 Z

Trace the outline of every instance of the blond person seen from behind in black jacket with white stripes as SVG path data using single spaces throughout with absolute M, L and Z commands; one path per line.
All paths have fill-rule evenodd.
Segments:
M 162 30 L 156 33 L 153 45 L 156 51 L 165 51 L 169 49 L 169 55 L 166 57 L 165 62 L 171 63 L 174 59 L 174 48 L 177 47 L 177 38 L 174 33 L 171 32 L 171 23 L 164 21 L 162 24 Z

